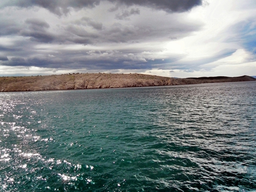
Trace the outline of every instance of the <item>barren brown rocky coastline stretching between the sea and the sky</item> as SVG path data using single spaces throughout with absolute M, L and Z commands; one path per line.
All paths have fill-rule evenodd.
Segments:
M 0 92 L 104 89 L 118 87 L 187 85 L 239 81 L 256 81 L 256 79 L 249 76 L 172 78 L 137 73 L 69 73 L 51 76 L 0 77 Z

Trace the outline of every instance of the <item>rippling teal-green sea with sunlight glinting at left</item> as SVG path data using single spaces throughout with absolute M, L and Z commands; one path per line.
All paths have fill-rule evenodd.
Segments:
M 256 82 L 0 93 L 0 191 L 256 191 Z

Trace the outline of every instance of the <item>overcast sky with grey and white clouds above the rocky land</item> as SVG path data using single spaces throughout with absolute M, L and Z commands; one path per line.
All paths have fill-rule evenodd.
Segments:
M 1 0 L 0 76 L 255 76 L 255 0 Z

